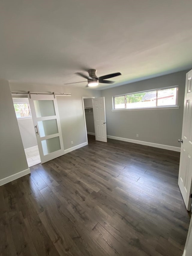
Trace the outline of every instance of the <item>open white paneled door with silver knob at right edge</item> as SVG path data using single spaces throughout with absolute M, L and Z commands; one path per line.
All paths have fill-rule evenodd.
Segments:
M 182 145 L 179 165 L 179 188 L 187 210 L 191 208 L 192 198 L 192 70 L 186 75 Z

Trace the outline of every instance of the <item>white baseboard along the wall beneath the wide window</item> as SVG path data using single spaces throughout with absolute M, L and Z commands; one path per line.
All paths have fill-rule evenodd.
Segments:
M 181 152 L 181 148 L 174 147 L 174 146 L 168 146 L 168 145 L 152 143 L 152 142 L 147 142 L 147 141 L 141 141 L 141 140 L 132 140 L 132 139 L 121 138 L 121 137 L 110 136 L 110 135 L 107 135 L 107 138 L 113 139 L 113 140 L 127 141 L 127 142 L 131 142 L 131 143 L 141 144 L 141 145 L 145 145 L 145 146 L 151 146 L 151 147 L 160 148 L 160 149 L 168 149 L 168 150 Z

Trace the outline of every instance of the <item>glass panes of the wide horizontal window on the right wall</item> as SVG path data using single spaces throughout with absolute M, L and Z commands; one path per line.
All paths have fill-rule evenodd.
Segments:
M 177 107 L 178 86 L 113 96 L 113 109 Z

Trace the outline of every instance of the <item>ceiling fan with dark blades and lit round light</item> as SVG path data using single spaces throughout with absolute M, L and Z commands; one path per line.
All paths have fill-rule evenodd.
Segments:
M 89 69 L 87 72 L 88 72 L 88 75 L 84 75 L 80 72 L 75 73 L 78 76 L 84 77 L 87 79 L 88 85 L 86 87 L 94 87 L 94 86 L 97 86 L 99 83 L 115 83 L 114 81 L 105 80 L 105 79 L 109 79 L 111 77 L 117 77 L 117 76 L 121 75 L 121 73 L 118 72 L 118 73 L 113 73 L 113 74 L 108 74 L 105 76 L 97 77 L 96 69 Z M 82 83 L 82 82 L 86 82 L 86 81 L 81 81 L 81 82 L 76 82 L 76 83 Z M 72 83 L 65 83 L 65 84 L 72 84 Z

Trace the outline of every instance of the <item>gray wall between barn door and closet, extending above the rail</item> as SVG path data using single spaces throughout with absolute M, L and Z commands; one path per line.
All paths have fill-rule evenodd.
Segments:
M 10 83 L 11 91 L 31 92 L 64 92 L 71 93 L 71 96 L 57 96 L 61 131 L 63 136 L 64 149 L 86 142 L 86 130 L 82 105 L 82 96 L 100 97 L 101 91 L 65 86 L 32 85 Z M 71 145 L 73 141 L 73 145 Z

